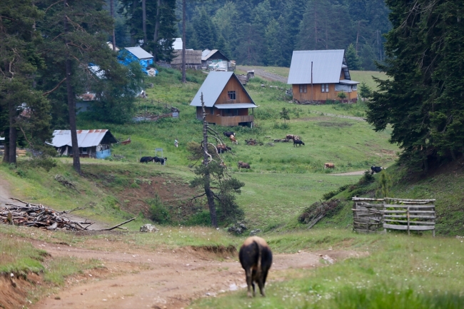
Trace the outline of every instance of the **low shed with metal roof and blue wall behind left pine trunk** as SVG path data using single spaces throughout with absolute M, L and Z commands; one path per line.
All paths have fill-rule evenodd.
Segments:
M 81 158 L 106 158 L 111 156 L 110 146 L 118 143 L 108 129 L 77 130 L 77 144 Z M 72 156 L 71 130 L 55 130 L 51 146 L 62 156 Z

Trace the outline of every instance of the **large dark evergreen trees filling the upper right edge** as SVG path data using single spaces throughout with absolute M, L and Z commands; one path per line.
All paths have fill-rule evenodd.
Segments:
M 391 78 L 368 102 L 375 130 L 391 125 L 403 161 L 427 170 L 464 154 L 464 2 L 387 0 L 393 29 L 388 58 Z

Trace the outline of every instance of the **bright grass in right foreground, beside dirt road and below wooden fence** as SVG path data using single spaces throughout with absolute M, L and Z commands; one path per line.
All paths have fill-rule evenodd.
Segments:
M 462 241 L 340 229 L 270 235 L 271 248 L 278 251 L 354 248 L 369 255 L 313 270 L 288 270 L 285 282 L 268 283 L 266 298 L 249 299 L 240 290 L 203 298 L 191 308 L 462 308 Z

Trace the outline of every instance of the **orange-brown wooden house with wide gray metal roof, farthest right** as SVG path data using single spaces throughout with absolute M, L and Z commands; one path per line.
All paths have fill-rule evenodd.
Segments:
M 341 100 L 341 92 L 346 95 L 341 101 L 358 101 L 359 82 L 351 80 L 343 49 L 293 51 L 288 83 L 292 85 L 293 100 L 298 103 Z

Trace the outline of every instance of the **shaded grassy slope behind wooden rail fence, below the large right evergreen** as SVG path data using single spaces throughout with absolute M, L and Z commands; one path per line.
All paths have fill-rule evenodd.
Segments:
M 440 166 L 429 173 L 410 173 L 408 168 L 396 163 L 384 172 L 391 179 L 389 196 L 393 198 L 428 199 L 435 198 L 436 233 L 438 235 L 464 235 L 464 168 L 462 162 L 452 162 Z M 379 175 L 375 181 L 364 185 L 355 185 L 333 198 L 343 202 L 341 210 L 331 218 L 324 218 L 316 228 L 352 226 L 353 202 L 355 194 L 363 197 L 375 197 Z

